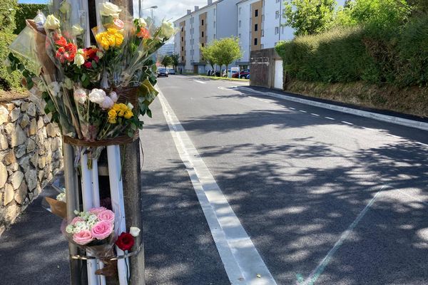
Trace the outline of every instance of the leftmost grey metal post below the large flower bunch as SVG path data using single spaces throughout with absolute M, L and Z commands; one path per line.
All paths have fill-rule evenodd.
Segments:
M 74 150 L 71 145 L 63 143 L 64 180 L 66 184 L 67 219 L 74 217 L 74 210 L 79 209 L 77 172 L 74 169 Z M 68 243 L 71 255 L 78 254 L 76 244 Z M 81 261 L 70 259 L 70 284 L 81 284 Z

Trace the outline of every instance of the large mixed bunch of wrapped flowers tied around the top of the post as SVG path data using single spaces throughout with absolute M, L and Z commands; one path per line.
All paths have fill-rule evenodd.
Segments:
M 157 95 L 152 56 L 175 30 L 165 21 L 156 26 L 133 19 L 107 1 L 98 4 L 98 25 L 88 27 L 79 5 L 64 0 L 27 21 L 8 61 L 11 71 L 23 73 L 27 88 L 44 98 L 64 141 L 96 158 L 107 140 L 134 138 L 143 127 L 141 115 L 151 116 Z

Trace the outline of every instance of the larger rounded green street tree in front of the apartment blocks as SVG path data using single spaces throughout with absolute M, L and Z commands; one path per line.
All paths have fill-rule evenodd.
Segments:
M 233 36 L 213 41 L 211 46 L 213 48 L 214 62 L 220 66 L 220 69 L 223 65 L 226 66 L 226 72 L 230 63 L 243 56 L 239 46 L 239 38 Z

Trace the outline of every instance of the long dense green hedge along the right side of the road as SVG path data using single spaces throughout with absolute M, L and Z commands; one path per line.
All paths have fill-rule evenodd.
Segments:
M 336 28 L 279 43 L 287 76 L 323 83 L 428 86 L 428 17 L 401 28 Z

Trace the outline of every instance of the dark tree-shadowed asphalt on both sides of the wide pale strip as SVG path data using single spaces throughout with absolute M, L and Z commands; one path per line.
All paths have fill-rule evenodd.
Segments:
M 158 84 L 277 284 L 428 283 L 427 132 L 243 93 L 237 82 Z M 144 212 L 163 216 L 167 234 L 146 239 L 149 284 L 228 284 L 158 102 L 153 116 Z

